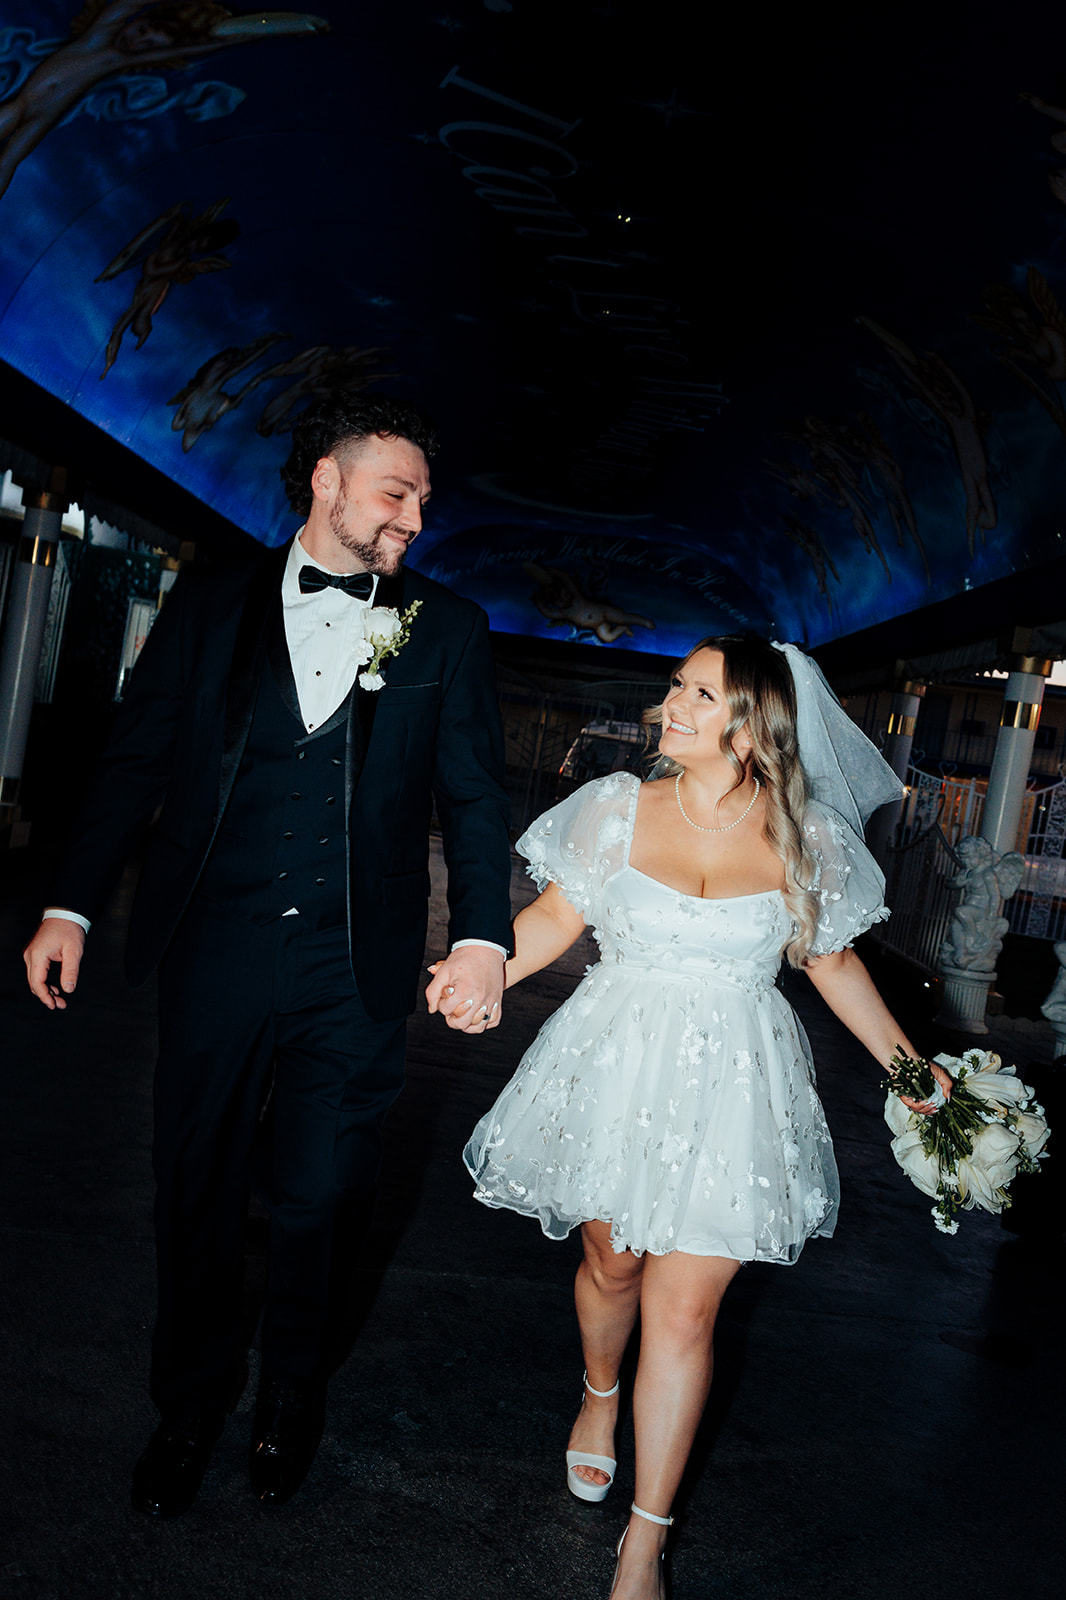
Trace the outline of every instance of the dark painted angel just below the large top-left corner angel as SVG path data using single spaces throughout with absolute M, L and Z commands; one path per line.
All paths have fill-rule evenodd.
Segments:
M 229 258 L 218 253 L 226 245 L 232 245 L 240 234 L 237 222 L 230 219 L 219 221 L 227 205 L 229 197 L 216 200 L 214 205 L 208 206 L 198 216 L 189 214 L 190 208 L 186 200 L 171 205 L 154 222 L 141 229 L 136 238 L 123 245 L 115 259 L 99 274 L 96 283 L 107 283 L 110 278 L 117 278 L 120 272 L 126 272 L 136 266 L 138 259 L 141 262 L 141 277 L 133 290 L 130 306 L 110 330 L 104 371 L 99 374 L 101 379 L 115 365 L 126 328 L 133 328 L 138 336 L 138 350 L 141 349 L 152 331 L 152 317 L 166 299 L 171 283 L 192 283 L 194 278 L 203 277 L 205 272 L 221 272 L 230 266 Z M 158 245 L 149 250 L 147 254 L 141 254 L 149 240 L 158 234 L 160 227 L 165 227 L 166 232 Z M 194 259 L 197 256 L 200 259 Z

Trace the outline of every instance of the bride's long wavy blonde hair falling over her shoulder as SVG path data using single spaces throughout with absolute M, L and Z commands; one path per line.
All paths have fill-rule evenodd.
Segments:
M 767 795 L 765 835 L 784 862 L 784 904 L 795 923 L 795 933 L 784 947 L 792 966 L 804 966 L 810 955 L 818 925 L 815 859 L 804 843 L 802 822 L 810 792 L 795 742 L 795 685 L 787 659 L 779 650 L 755 634 L 715 634 L 701 638 L 680 662 L 685 667 L 701 650 L 722 654 L 722 685 L 730 706 L 730 718 L 722 730 L 722 754 L 736 773 L 735 789 L 744 782 L 747 766 L 733 749 L 733 738 L 747 728 L 752 774 Z M 663 726 L 663 706 L 650 706 L 643 714 L 648 736 Z M 651 776 L 672 778 L 683 773 L 680 762 L 659 755 Z

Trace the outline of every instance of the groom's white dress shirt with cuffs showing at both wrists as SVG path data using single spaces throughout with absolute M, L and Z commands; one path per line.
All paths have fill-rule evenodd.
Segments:
M 307 733 L 328 722 L 341 701 L 352 693 L 355 674 L 360 670 L 359 645 L 363 642 L 363 611 L 375 603 L 378 594 L 378 576 L 367 600 L 344 594 L 343 589 L 315 589 L 312 594 L 301 594 L 299 568 L 317 566 L 323 573 L 331 568 L 323 566 L 303 546 L 303 528 L 291 542 L 285 573 L 282 576 L 282 616 L 285 619 L 285 643 L 296 680 L 296 698 L 299 699 L 299 715 Z M 293 906 L 285 912 L 296 917 L 299 907 Z M 74 910 L 50 906 L 43 917 L 64 917 L 77 922 L 80 928 L 90 931 L 90 923 Z M 491 939 L 456 939 L 453 950 L 464 944 L 480 944 L 488 950 L 507 952 Z

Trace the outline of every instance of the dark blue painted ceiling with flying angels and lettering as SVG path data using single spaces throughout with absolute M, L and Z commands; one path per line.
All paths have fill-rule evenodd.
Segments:
M 501 632 L 820 645 L 1039 571 L 1052 13 L 699 16 L 0 0 L 0 358 L 267 544 L 309 397 L 416 400 L 411 560 Z

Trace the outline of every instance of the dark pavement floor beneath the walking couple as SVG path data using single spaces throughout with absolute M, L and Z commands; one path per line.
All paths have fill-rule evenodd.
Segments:
M 623 1432 L 605 1506 L 567 1494 L 576 1243 L 474 1205 L 459 1165 L 587 952 L 509 997 L 504 1026 L 482 1040 L 415 1018 L 378 1222 L 354 1277 L 362 1326 L 307 1485 L 269 1518 L 251 1501 L 250 1386 L 197 1506 L 155 1525 L 128 1507 L 154 1426 L 152 995 L 118 976 L 118 904 L 93 933 L 70 1011 L 30 1000 L 18 949 L 38 870 L 30 854 L 5 870 L 0 1597 L 605 1600 L 632 1440 Z M 437 920 L 435 954 L 440 931 Z M 892 1162 L 876 1066 L 804 979 L 794 987 L 844 1214 L 797 1267 L 746 1267 L 730 1288 L 677 1507 L 675 1600 L 1058 1597 L 1061 1187 L 1037 1181 L 1036 1232 L 970 1214 L 956 1238 L 936 1234 L 928 1200 Z M 896 989 L 911 1026 L 920 987 Z M 912 1030 L 925 1048 L 951 1045 L 928 1024 Z M 253 1224 L 253 1250 L 254 1238 Z M 253 1253 L 253 1285 L 258 1264 Z

